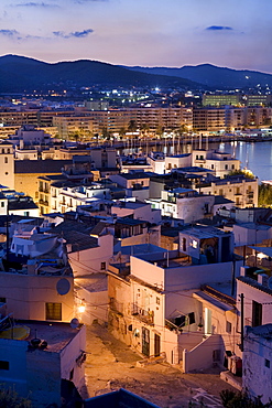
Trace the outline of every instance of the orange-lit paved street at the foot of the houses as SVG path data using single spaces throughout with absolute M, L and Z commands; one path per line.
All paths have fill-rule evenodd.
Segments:
M 220 408 L 220 391 L 233 389 L 220 379 L 218 367 L 196 374 L 167 363 L 137 367 L 142 357 L 99 324 L 87 326 L 86 353 L 83 398 L 122 387 L 161 408 Z

